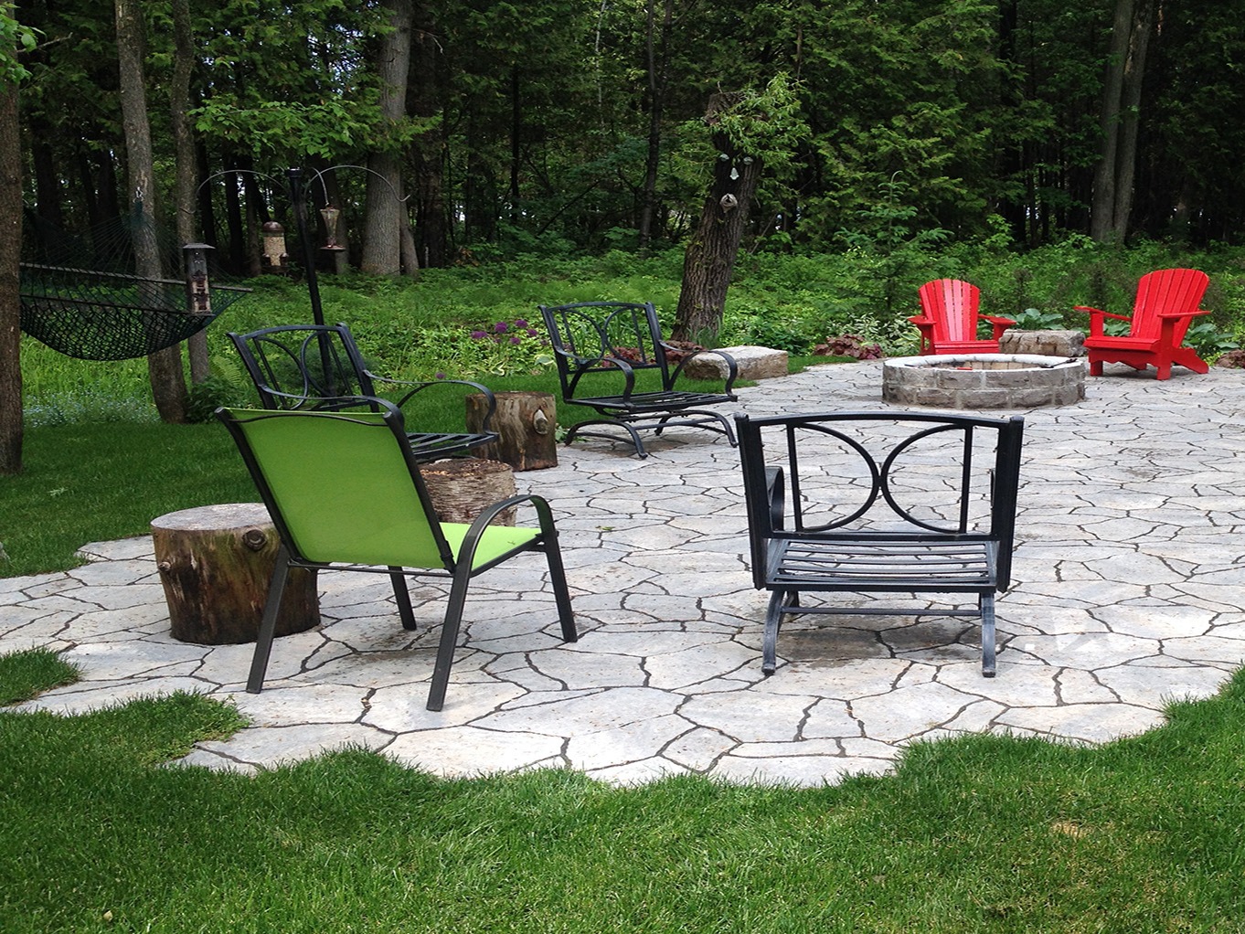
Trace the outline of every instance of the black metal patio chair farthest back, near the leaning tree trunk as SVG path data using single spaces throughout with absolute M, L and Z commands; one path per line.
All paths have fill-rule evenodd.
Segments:
M 639 432 L 646 428 L 660 435 L 674 426 L 697 427 L 725 435 L 736 445 L 731 422 L 718 412 L 701 406 L 733 402 L 731 391 L 737 375 L 735 360 L 720 350 L 685 354 L 661 337 L 661 325 L 651 303 L 584 301 L 571 305 L 540 305 L 558 364 L 561 400 L 588 406 L 600 418 L 580 422 L 566 432 L 569 445 L 576 437 L 601 437 L 618 441 L 616 432 L 595 431 L 595 426 L 621 428 L 635 452 L 647 457 Z M 687 362 L 701 355 L 720 357 L 726 367 L 721 392 L 676 389 Z M 671 356 L 679 359 L 671 369 Z M 655 370 L 661 387 L 640 390 L 636 371 Z M 600 392 L 605 390 L 605 392 Z

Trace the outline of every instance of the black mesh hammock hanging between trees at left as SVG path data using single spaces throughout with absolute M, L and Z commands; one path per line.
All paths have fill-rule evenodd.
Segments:
M 187 310 L 186 283 L 21 264 L 21 330 L 66 356 L 128 360 L 181 344 L 250 289 L 210 286 L 209 309 Z

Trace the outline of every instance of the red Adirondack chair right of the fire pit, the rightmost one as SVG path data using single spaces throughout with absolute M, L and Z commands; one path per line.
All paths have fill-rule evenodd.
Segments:
M 1077 305 L 1077 311 L 1089 314 L 1089 336 L 1086 337 L 1089 372 L 1102 376 L 1103 364 L 1128 364 L 1134 370 L 1154 366 L 1160 380 L 1172 375 L 1173 364 L 1208 372 L 1206 361 L 1193 347 L 1180 344 L 1193 319 L 1209 314 L 1198 308 L 1209 283 L 1210 278 L 1199 269 L 1159 269 L 1147 273 L 1137 284 L 1132 318 Z M 1106 334 L 1103 323 L 1108 318 L 1130 321 L 1128 335 L 1112 337 Z

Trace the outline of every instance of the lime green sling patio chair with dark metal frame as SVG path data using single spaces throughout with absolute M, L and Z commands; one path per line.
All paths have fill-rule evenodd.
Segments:
M 377 412 L 217 410 L 281 539 L 247 681 L 251 694 L 264 685 L 290 568 L 388 574 L 406 629 L 415 629 L 406 575 L 452 580 L 428 710 L 444 702 L 471 579 L 517 554 L 544 553 L 561 636 L 578 638 L 549 504 L 517 496 L 487 507 L 469 526 L 438 522 L 401 411 L 376 403 Z M 535 508 L 539 528 L 488 524 L 518 503 Z

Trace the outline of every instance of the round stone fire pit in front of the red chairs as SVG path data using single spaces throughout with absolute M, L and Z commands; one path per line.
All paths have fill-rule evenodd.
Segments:
M 886 360 L 881 397 L 935 408 L 1037 408 L 1086 397 L 1079 359 L 1035 354 L 961 354 Z

